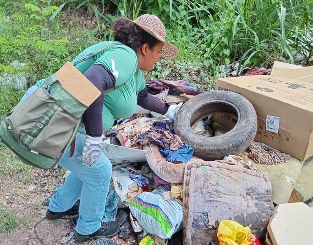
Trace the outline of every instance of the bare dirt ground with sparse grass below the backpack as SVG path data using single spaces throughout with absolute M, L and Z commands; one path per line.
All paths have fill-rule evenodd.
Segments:
M 8 223 L 15 224 L 12 232 L 0 231 L 0 245 L 88 245 L 92 242 L 80 243 L 74 239 L 76 216 L 58 220 L 44 218 L 47 207 L 42 202 L 64 181 L 64 173 L 60 167 L 50 170 L 28 167 L 0 143 L 0 219 L 6 218 Z M 0 226 L 2 224 L 0 222 Z M 113 240 L 121 245 L 136 242 L 134 235 L 128 241 L 118 237 Z

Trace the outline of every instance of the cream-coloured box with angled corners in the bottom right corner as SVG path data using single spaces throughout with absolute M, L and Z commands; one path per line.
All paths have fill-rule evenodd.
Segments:
M 303 202 L 280 204 L 267 226 L 273 245 L 312 244 L 313 210 Z

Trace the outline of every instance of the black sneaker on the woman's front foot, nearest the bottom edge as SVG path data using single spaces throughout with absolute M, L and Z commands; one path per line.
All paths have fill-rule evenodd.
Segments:
M 85 242 L 89 239 L 98 239 L 98 238 L 111 238 L 118 234 L 120 231 L 120 225 L 118 222 L 104 222 L 98 231 L 90 234 L 90 235 L 80 235 L 77 231 L 75 231 L 74 236 L 79 242 Z

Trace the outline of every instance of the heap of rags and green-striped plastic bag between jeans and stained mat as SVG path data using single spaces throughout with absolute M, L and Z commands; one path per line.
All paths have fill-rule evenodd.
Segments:
M 112 172 L 103 220 L 115 221 L 118 209 L 128 209 L 137 237 L 170 239 L 183 225 L 182 195 L 182 184 L 162 180 L 147 163 L 133 163 Z

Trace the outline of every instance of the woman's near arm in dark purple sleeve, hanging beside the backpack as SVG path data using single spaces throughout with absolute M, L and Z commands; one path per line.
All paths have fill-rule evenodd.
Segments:
M 115 77 L 106 67 L 99 64 L 92 65 L 84 75 L 101 92 L 101 95 L 85 110 L 83 115 L 86 134 L 100 137 L 102 135 L 104 91 L 115 86 Z

